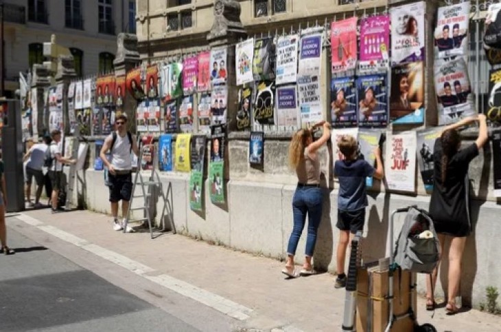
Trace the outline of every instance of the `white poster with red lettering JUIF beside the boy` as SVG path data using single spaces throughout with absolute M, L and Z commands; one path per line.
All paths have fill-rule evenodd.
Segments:
M 389 190 L 415 192 L 416 132 L 386 133 L 384 173 Z

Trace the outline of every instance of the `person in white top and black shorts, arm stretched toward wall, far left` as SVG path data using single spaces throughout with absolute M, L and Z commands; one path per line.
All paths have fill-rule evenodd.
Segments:
M 62 164 L 75 164 L 75 159 L 62 157 L 61 154 L 61 131 L 54 129 L 51 131 L 52 142 L 45 154 L 45 166 L 47 166 L 49 178 L 51 179 L 51 207 L 52 213 L 58 213 L 58 196 L 62 186 Z

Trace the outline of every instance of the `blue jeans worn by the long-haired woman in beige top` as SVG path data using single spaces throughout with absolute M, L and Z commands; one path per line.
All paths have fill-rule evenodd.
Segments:
M 308 215 L 308 233 L 306 238 L 305 255 L 313 256 L 316 243 L 316 231 L 322 218 L 322 189 L 318 187 L 296 188 L 292 198 L 292 213 L 294 214 L 294 227 L 290 234 L 287 246 L 288 255 L 295 255 L 299 238 L 305 227 L 306 214 Z

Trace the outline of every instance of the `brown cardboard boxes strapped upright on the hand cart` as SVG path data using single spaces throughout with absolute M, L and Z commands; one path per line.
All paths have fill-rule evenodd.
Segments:
M 402 271 L 401 276 L 399 270 L 393 273 L 393 314 L 395 316 L 406 314 L 411 309 L 411 292 L 416 294 L 416 288 L 411 288 L 411 277 L 408 271 Z M 389 314 L 389 281 L 388 270 L 381 272 L 377 266 L 358 269 L 357 332 L 384 332 L 386 329 Z M 416 296 L 414 299 L 417 301 Z M 412 331 L 414 323 L 415 321 L 410 317 L 395 320 L 391 331 Z M 370 330 L 369 324 L 372 326 Z

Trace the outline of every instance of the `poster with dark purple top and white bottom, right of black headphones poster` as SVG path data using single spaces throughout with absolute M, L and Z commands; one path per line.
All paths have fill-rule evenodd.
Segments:
M 296 86 L 277 88 L 277 125 L 299 127 Z

